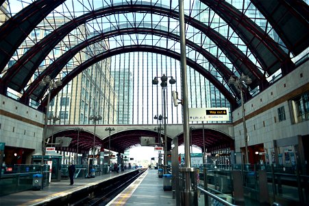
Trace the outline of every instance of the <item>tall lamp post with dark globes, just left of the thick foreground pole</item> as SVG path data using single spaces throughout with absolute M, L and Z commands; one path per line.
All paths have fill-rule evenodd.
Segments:
M 166 168 L 167 168 L 167 137 L 166 137 L 166 97 L 165 97 L 165 88 L 167 87 L 167 79 L 171 78 L 169 80 L 170 84 L 175 84 L 176 80 L 173 78 L 173 76 L 165 76 L 163 74 L 162 77 L 155 77 L 152 80 L 152 84 L 157 85 L 159 83 L 158 78 L 161 79 L 161 87 L 163 91 L 163 115 L 164 115 L 164 174 L 167 173 Z

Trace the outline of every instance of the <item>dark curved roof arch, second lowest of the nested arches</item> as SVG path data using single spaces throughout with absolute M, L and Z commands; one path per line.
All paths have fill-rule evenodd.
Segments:
M 119 30 L 112 30 L 108 32 L 104 32 L 103 34 L 98 34 L 97 36 L 93 36 L 92 38 L 88 38 L 86 41 L 79 43 L 72 49 L 69 49 L 65 54 L 60 56 L 57 60 L 55 60 L 45 71 L 40 74 L 40 77 L 36 78 L 34 82 L 27 88 L 23 96 L 21 97 L 20 101 L 25 102 L 27 98 L 31 98 L 38 102 L 42 95 L 47 90 L 47 87 L 39 87 L 38 83 L 40 82 L 41 78 L 46 76 L 48 73 L 49 76 L 53 79 L 55 78 L 58 73 L 62 70 L 62 68 L 66 65 L 73 56 L 75 56 L 79 51 L 82 51 L 88 45 L 92 45 L 93 43 L 97 43 L 106 38 L 111 38 L 113 36 L 118 36 L 121 34 L 154 34 L 157 36 L 164 36 L 166 38 L 171 38 L 173 41 L 180 41 L 180 36 L 173 34 L 171 32 L 166 32 L 164 30 L 157 30 L 147 27 L 129 27 L 129 28 L 122 28 Z M 193 43 L 192 41 L 186 40 L 186 45 L 192 49 L 195 49 L 199 52 L 202 56 L 204 56 L 207 60 L 210 61 L 210 64 L 214 66 L 214 68 L 219 71 L 225 82 L 228 82 L 230 76 L 232 76 L 232 71 L 228 69 L 223 62 L 215 58 L 212 54 L 207 52 L 205 49 L 200 47 L 199 45 Z M 238 91 L 234 91 L 234 94 L 238 94 Z

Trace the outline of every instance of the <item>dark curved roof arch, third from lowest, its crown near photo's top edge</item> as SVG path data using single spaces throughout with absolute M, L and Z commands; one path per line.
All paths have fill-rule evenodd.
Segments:
M 173 19 L 179 18 L 178 12 L 171 11 L 169 8 L 137 3 L 134 3 L 134 6 L 127 3 L 124 5 L 114 5 L 110 8 L 102 8 L 86 13 L 73 19 L 72 21 L 69 21 L 69 23 L 62 25 L 57 30 L 51 32 L 51 34 L 43 38 L 39 43 L 32 47 L 32 49 L 29 49 L 29 51 L 18 60 L 18 63 L 13 65 L 8 72 L 5 73 L 5 76 L 3 76 L 3 84 L 6 87 L 10 86 L 16 91 L 21 91 L 21 89 L 25 87 L 25 84 L 27 84 L 33 76 L 35 69 L 39 66 L 40 62 L 42 62 L 47 54 L 51 52 L 51 49 L 53 49 L 53 47 L 55 47 L 55 45 L 57 45 L 62 38 L 64 38 L 64 36 L 69 34 L 69 32 L 77 26 L 100 16 L 114 13 L 122 14 L 127 12 L 151 12 L 162 16 L 171 16 Z M 189 25 L 197 28 L 197 30 L 203 32 L 203 34 L 216 43 L 225 53 L 227 58 L 230 59 L 233 65 L 238 68 L 238 71 L 240 71 L 239 73 L 245 73 L 250 76 L 252 79 L 252 83 L 250 84 L 251 89 L 258 87 L 260 81 L 264 80 L 263 74 L 256 67 L 256 65 L 254 65 L 254 63 L 251 62 L 251 60 L 249 60 L 249 58 L 247 58 L 247 56 L 240 51 L 240 49 L 228 41 L 224 36 L 219 34 L 219 32 L 212 30 L 212 28 L 201 23 L 201 21 L 192 19 L 190 16 L 185 16 L 185 21 Z M 18 81 L 14 78 L 16 75 L 18 75 Z

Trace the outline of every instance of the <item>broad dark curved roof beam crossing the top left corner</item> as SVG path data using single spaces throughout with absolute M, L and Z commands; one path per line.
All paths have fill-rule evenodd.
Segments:
M 0 27 L 0 72 L 16 49 L 52 10 L 65 0 L 38 0 L 12 16 Z M 14 5 L 13 5 L 14 6 Z

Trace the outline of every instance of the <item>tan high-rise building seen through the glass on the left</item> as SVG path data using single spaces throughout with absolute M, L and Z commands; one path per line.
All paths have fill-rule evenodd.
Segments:
M 53 30 L 62 26 L 67 21 L 70 21 L 70 19 L 63 16 L 57 18 L 47 17 L 45 21 L 42 21 L 36 29 L 29 34 L 26 41 L 18 48 L 16 56 L 10 60 L 8 67 L 14 65 L 17 58 L 25 54 L 38 41 L 41 41 L 42 38 L 45 38 Z M 55 46 L 45 60 L 40 63 L 31 82 L 33 82 L 42 71 L 47 69 L 54 60 L 60 58 L 60 56 L 68 52 L 69 49 L 81 43 L 82 39 L 90 38 L 91 36 L 92 34 L 90 34 L 86 25 L 79 25 L 79 27 L 71 31 Z M 99 41 L 92 45 L 88 45 L 66 63 L 55 80 L 61 80 L 70 71 L 81 65 L 82 62 L 92 58 L 99 51 L 106 51 L 107 48 L 108 45 L 105 41 Z M 16 95 L 20 96 L 18 93 Z M 111 122 L 110 117 L 115 116 L 117 102 L 118 98 L 114 91 L 114 78 L 110 73 L 110 58 L 106 58 L 84 69 L 84 71 L 73 78 L 69 84 L 66 84 L 55 98 L 51 99 L 48 113 L 49 124 L 53 124 L 53 117 L 58 117 L 55 124 L 93 124 L 92 121 L 89 120 L 91 115 L 102 116 L 102 119 L 97 122 L 97 124 L 103 124 L 103 122 L 114 124 L 116 119 Z M 30 106 L 36 107 L 38 106 L 38 102 L 30 100 Z

